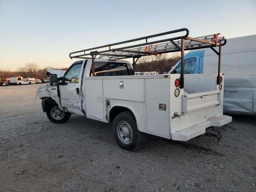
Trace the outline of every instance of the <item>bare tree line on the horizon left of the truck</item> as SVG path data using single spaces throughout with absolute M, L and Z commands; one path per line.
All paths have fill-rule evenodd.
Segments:
M 16 71 L 0 69 L 0 79 L 22 76 L 23 78 L 37 77 L 42 80 L 43 78 L 47 78 L 45 74 L 47 69 L 67 70 L 68 68 L 54 68 L 51 66 L 40 68 L 36 63 L 25 63 L 23 67 L 19 67 Z

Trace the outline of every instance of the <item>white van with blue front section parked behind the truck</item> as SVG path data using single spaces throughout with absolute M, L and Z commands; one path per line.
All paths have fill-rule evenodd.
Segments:
M 184 59 L 185 74 L 218 72 L 218 56 L 211 49 L 190 51 Z M 224 111 L 255 114 L 256 35 L 227 39 L 222 47 L 221 63 L 225 74 Z M 180 72 L 180 61 L 170 72 L 174 70 Z

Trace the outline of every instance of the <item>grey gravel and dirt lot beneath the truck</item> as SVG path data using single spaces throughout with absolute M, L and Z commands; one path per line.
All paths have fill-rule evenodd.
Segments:
M 51 123 L 37 85 L 0 87 L 0 191 L 256 191 L 256 118 L 233 116 L 222 138 L 147 136 L 122 150 L 112 125 L 72 115 Z M 18 174 L 16 174 L 18 173 Z

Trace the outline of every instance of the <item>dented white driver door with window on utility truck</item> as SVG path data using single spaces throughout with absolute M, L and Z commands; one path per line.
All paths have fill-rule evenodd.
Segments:
M 80 87 L 82 81 L 83 61 L 76 62 L 64 74 L 63 84 L 59 85 L 60 102 L 68 112 L 84 116 L 81 108 Z

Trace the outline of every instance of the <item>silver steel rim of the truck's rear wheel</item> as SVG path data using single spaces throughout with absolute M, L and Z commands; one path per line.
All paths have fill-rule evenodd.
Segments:
M 132 141 L 132 128 L 126 121 L 120 121 L 117 125 L 118 138 L 124 144 L 129 144 Z

